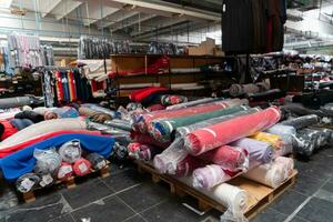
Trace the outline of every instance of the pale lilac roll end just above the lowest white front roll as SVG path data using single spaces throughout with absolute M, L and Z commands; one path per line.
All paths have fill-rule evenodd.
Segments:
M 223 170 L 220 165 L 210 164 L 193 171 L 193 186 L 200 190 L 210 190 L 238 175 L 236 172 Z

